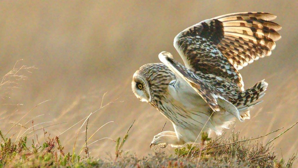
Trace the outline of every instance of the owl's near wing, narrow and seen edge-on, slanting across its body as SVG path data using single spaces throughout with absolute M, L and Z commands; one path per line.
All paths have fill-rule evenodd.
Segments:
M 178 83 L 188 83 L 213 111 L 220 111 L 220 107 L 222 107 L 240 121 L 243 121 L 243 119 L 240 118 L 238 109 L 227 100 L 228 97 L 224 96 L 222 91 L 210 85 L 193 71 L 175 61 L 170 53 L 165 51 L 161 52 L 159 59 L 176 75 L 176 80 L 179 81 Z

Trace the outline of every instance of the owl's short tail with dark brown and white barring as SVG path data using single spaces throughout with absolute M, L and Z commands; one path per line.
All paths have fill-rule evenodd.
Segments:
M 251 88 L 236 94 L 230 101 L 239 111 L 248 111 L 250 107 L 262 102 L 257 100 L 265 95 L 267 86 L 268 83 L 262 80 Z

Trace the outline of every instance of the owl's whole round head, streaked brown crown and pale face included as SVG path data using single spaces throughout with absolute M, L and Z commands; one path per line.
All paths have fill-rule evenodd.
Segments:
M 131 88 L 142 102 L 156 103 L 167 90 L 175 75 L 162 63 L 151 63 L 141 66 L 133 75 Z

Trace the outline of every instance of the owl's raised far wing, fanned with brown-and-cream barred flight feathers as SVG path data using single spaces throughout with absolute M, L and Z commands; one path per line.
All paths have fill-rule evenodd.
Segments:
M 195 24 L 174 39 L 174 47 L 190 70 L 215 74 L 243 90 L 238 70 L 269 56 L 280 39 L 276 16 L 263 12 L 231 13 Z

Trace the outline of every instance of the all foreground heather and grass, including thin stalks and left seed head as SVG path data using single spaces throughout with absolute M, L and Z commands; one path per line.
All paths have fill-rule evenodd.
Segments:
M 13 70 L 4 75 L 2 82 L 0 84 L 0 90 L 3 91 L 5 95 L 16 88 L 19 85 L 19 81 L 26 79 L 24 75 L 19 75 L 22 71 L 28 71 L 34 67 L 21 66 L 21 68 L 13 67 Z M 46 100 L 48 101 L 48 100 Z M 44 102 L 46 102 L 44 101 Z M 42 102 L 42 103 L 44 103 Z M 39 106 L 39 103 L 37 106 Z M 109 105 L 108 103 L 107 105 Z M 100 109 L 107 106 L 101 103 Z M 35 106 L 35 107 L 37 107 Z M 34 107 L 34 108 L 35 108 Z M 89 140 L 94 136 L 94 134 L 100 130 L 103 126 L 112 121 L 104 124 L 99 129 L 97 129 L 88 138 L 88 123 L 90 116 L 97 112 L 98 110 L 90 113 L 87 117 L 83 118 L 79 122 L 72 125 L 70 128 L 66 129 L 68 131 L 77 124 L 82 123 L 79 127 L 76 136 L 75 143 L 73 145 L 72 152 L 65 151 L 63 144 L 60 142 L 60 133 L 57 136 L 51 136 L 48 132 L 44 132 L 44 139 L 38 138 L 35 132 L 41 129 L 34 129 L 35 126 L 41 123 L 34 124 L 34 119 L 31 121 L 32 126 L 25 126 L 21 124 L 20 121 L 23 120 L 28 113 L 30 113 L 34 108 L 24 114 L 18 122 L 14 123 L 13 126 L 6 132 L 3 133 L 0 128 L 0 168 L 2 167 L 165 167 L 165 168 L 180 168 L 180 167 L 274 167 L 274 168 L 291 168 L 293 167 L 293 162 L 296 159 L 296 154 L 285 161 L 282 155 L 277 156 L 273 151 L 274 140 L 283 136 L 285 132 L 295 126 L 297 123 L 293 124 L 291 127 L 281 132 L 272 140 L 267 143 L 262 143 L 259 141 L 261 138 L 266 137 L 269 134 L 274 134 L 283 128 L 272 131 L 266 135 L 257 138 L 241 138 L 240 132 L 235 132 L 233 130 L 231 135 L 222 135 L 220 137 L 215 137 L 213 139 L 208 137 L 208 134 L 201 132 L 201 140 L 198 144 L 187 144 L 185 147 L 176 148 L 173 154 L 165 153 L 162 150 L 155 150 L 153 155 L 147 155 L 145 157 L 138 157 L 136 154 L 125 152 L 122 147 L 125 145 L 129 139 L 129 131 L 134 125 L 134 122 L 128 128 L 125 135 L 122 138 L 117 138 L 113 140 L 111 138 L 101 138 L 110 139 L 114 141 L 112 145 L 115 146 L 114 155 L 110 155 L 109 158 L 98 158 L 94 157 L 89 153 L 89 145 L 99 141 L 96 140 L 92 143 L 88 143 Z M 59 124 L 59 123 L 58 123 Z M 53 126 L 52 124 L 49 126 Z M 85 127 L 86 125 L 86 127 Z M 11 133 L 15 126 L 20 126 L 15 133 Z M 48 126 L 48 127 L 49 127 Z M 28 128 L 29 127 L 29 128 Z M 164 126 L 163 126 L 164 127 Z M 21 128 L 25 129 L 21 133 Z M 75 151 L 77 146 L 77 138 L 82 129 L 85 129 L 84 139 L 85 143 L 81 144 L 82 147 L 79 151 Z M 162 128 L 163 130 L 163 128 Z M 27 134 L 26 134 L 27 133 Z M 32 139 L 28 139 L 28 135 L 33 135 Z M 100 150 L 100 149 L 98 149 Z

